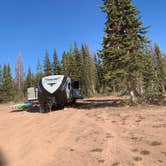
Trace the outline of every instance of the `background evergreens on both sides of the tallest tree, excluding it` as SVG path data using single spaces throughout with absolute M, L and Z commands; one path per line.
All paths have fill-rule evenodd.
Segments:
M 151 103 L 161 99 L 166 91 L 166 57 L 158 45 L 147 47 L 143 56 L 134 86 L 139 102 Z M 127 77 L 114 73 L 114 70 L 106 70 L 103 60 L 98 55 L 92 55 L 87 45 L 79 49 L 75 43 L 73 48 L 63 53 L 61 60 L 54 50 L 52 59 L 46 50 L 43 64 L 38 59 L 36 72 L 33 73 L 29 66 L 25 74 L 22 57 L 18 55 L 15 78 L 12 78 L 9 64 L 0 66 L 0 102 L 26 99 L 28 87 L 37 86 L 43 76 L 52 74 L 80 80 L 84 97 L 96 94 L 130 95 Z

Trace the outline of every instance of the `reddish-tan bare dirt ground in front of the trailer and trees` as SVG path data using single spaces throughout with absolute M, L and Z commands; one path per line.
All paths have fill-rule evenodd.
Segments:
M 166 166 L 166 106 L 111 97 L 50 113 L 0 105 L 0 166 Z

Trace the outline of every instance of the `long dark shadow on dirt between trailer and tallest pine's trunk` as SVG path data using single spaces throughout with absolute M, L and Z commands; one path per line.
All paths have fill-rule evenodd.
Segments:
M 77 102 L 74 108 L 77 109 L 95 109 L 105 107 L 122 107 L 127 104 L 128 100 L 122 99 L 106 99 L 106 100 L 84 100 L 83 102 Z

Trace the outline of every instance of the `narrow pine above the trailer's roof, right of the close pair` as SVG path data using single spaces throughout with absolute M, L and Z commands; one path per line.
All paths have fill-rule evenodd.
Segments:
M 61 74 L 61 65 L 57 57 L 56 50 L 54 50 L 53 54 L 53 64 L 52 64 L 52 70 L 54 75 L 60 75 Z

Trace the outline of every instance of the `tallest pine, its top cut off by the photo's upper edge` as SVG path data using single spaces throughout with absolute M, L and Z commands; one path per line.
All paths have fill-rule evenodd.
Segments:
M 133 103 L 137 102 L 137 82 L 142 66 L 142 50 L 148 40 L 147 28 L 138 18 L 139 11 L 131 0 L 103 0 L 107 14 L 103 50 L 100 52 L 107 81 L 126 79 Z M 118 79 L 118 80 L 117 80 Z

